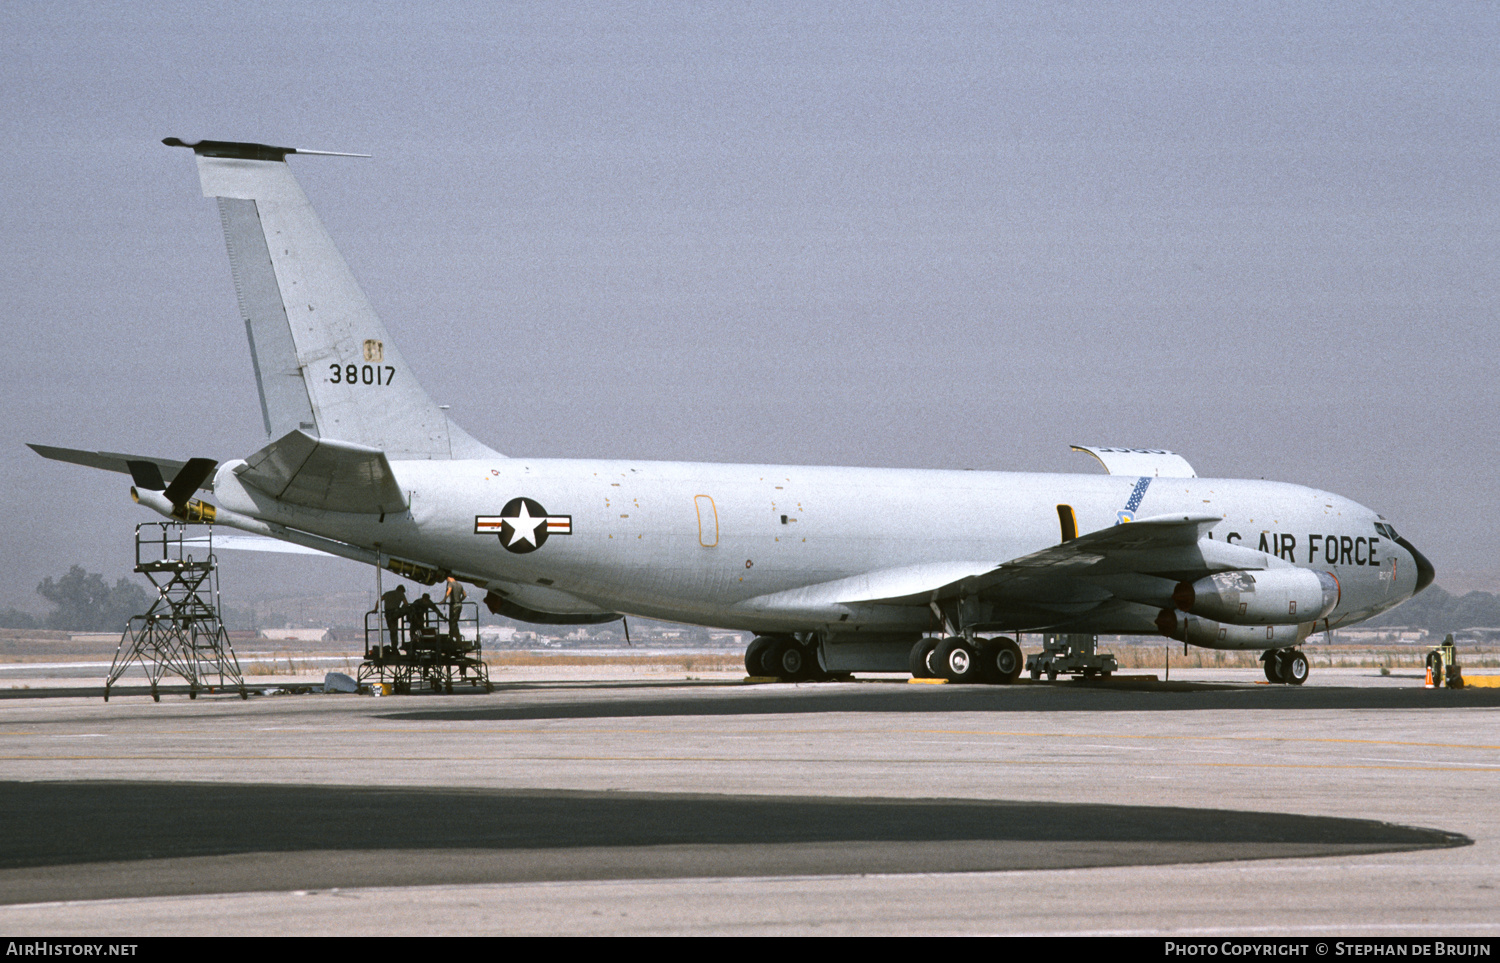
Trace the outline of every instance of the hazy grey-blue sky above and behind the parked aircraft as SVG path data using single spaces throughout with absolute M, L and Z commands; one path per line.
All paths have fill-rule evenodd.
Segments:
M 1227 4 L 1224 4 L 1227 8 Z M 1496 588 L 1492 3 L 0 6 L 0 606 L 264 444 L 184 140 L 291 164 L 506 453 L 1326 488 Z M 236 558 L 242 597 L 360 588 Z

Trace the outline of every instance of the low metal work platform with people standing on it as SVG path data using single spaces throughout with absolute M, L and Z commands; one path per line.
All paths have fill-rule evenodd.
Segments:
M 394 624 L 394 638 L 392 634 Z M 406 694 L 412 686 L 453 692 L 470 684 L 494 692 L 478 642 L 478 604 L 459 606 L 417 600 L 387 620 L 384 602 L 364 614 L 364 662 L 360 686 L 388 686 Z

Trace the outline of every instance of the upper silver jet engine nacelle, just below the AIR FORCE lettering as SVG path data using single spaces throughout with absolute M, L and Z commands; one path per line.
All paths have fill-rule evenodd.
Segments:
M 1172 592 L 1173 604 L 1184 612 L 1230 626 L 1316 622 L 1334 610 L 1338 597 L 1338 579 L 1308 568 L 1220 572 L 1179 582 Z

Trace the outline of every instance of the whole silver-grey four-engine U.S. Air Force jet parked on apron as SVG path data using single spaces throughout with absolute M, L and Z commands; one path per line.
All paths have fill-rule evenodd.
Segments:
M 1155 448 L 1080 448 L 1107 474 L 507 458 L 428 398 L 364 298 L 286 164 L 321 152 L 164 142 L 218 204 L 268 444 L 224 464 L 33 447 L 130 474 L 165 516 L 452 574 L 520 621 L 748 630 L 747 668 L 784 680 L 1011 682 L 1004 633 L 1044 632 L 1263 650 L 1268 678 L 1302 682 L 1312 632 L 1432 582 L 1364 506 Z

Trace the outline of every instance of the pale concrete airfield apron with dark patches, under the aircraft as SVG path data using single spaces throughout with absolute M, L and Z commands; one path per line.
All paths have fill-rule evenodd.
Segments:
M 1192 678 L 10 692 L 0 926 L 1500 934 L 1500 690 Z

